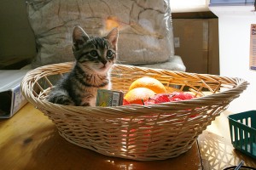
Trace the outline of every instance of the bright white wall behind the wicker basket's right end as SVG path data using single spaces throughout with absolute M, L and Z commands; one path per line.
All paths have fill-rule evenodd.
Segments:
M 256 71 L 250 70 L 250 29 L 255 24 L 253 5 L 212 7 L 218 15 L 220 75 L 239 77 L 250 83 L 229 111 L 256 110 Z

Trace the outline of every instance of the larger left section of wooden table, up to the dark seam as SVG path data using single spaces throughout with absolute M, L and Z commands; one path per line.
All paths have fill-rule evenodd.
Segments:
M 0 169 L 84 170 L 198 170 L 197 143 L 183 154 L 165 161 L 131 161 L 102 156 L 61 138 L 47 116 L 27 104 L 8 120 L 0 120 Z

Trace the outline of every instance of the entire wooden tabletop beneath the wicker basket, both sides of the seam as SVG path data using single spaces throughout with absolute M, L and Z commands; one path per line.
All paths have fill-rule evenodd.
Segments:
M 256 161 L 233 149 L 224 112 L 186 153 L 165 161 L 131 161 L 102 156 L 61 138 L 55 125 L 31 104 L 0 120 L 0 169 L 169 170 L 223 169 Z

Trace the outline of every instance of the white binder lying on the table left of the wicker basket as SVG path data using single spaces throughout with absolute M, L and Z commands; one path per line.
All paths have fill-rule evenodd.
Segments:
M 21 94 L 20 82 L 27 71 L 0 71 L 0 118 L 14 116 L 27 103 Z

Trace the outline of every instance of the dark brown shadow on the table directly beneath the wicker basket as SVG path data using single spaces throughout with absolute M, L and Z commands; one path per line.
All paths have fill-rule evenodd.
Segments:
M 201 169 L 201 162 L 198 162 L 195 154 L 191 154 L 191 152 L 198 152 L 197 147 L 192 148 L 181 156 L 164 161 L 132 161 L 103 156 L 95 151 L 67 142 L 66 139 L 59 135 L 57 129 L 48 129 L 48 131 L 48 133 L 47 131 L 44 132 L 45 135 L 42 132 L 38 132 L 42 133 L 42 138 L 38 138 L 38 141 L 35 141 L 36 147 L 32 150 L 34 164 L 32 166 L 29 163 L 27 167 L 31 167 L 31 169 L 38 169 L 44 166 L 42 169 L 164 170 L 171 167 L 173 169 L 187 169 L 189 162 L 193 162 L 195 166 L 191 166 L 191 170 Z M 180 160 L 183 160 L 183 165 L 176 163 L 181 162 Z

